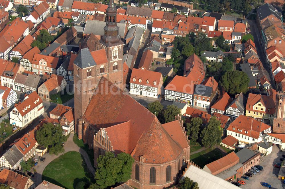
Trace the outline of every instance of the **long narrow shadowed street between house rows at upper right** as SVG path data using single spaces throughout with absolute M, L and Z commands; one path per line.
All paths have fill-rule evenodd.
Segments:
M 261 44 L 261 38 L 260 38 L 260 34 L 259 34 L 259 30 L 256 24 L 256 20 L 248 20 L 248 24 L 249 24 L 249 28 L 251 30 L 251 34 L 254 37 L 254 43 L 255 46 L 257 48 L 257 54 L 259 56 L 260 61 L 262 62 L 263 68 L 264 68 L 264 75 L 265 77 L 268 79 L 268 81 L 270 82 L 271 86 L 273 89 L 276 89 L 276 85 L 274 83 L 274 80 L 272 78 L 272 74 L 270 71 L 270 67 L 269 65 L 266 63 L 266 57 L 265 57 L 265 53 L 263 50 L 263 46 Z

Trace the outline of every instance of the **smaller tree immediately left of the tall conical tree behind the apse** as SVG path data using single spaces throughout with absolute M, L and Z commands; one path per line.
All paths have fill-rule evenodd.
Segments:
M 190 140 L 196 142 L 198 140 L 198 135 L 201 129 L 203 121 L 200 117 L 192 118 L 191 123 L 186 124 L 187 135 L 190 137 Z

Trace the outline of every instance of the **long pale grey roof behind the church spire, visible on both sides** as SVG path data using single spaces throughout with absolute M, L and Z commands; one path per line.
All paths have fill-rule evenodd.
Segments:
M 98 21 L 98 20 L 87 20 L 83 33 L 94 35 L 104 35 L 104 27 L 106 26 L 106 22 Z M 125 36 L 126 23 L 117 23 L 119 27 L 119 36 L 123 38 Z

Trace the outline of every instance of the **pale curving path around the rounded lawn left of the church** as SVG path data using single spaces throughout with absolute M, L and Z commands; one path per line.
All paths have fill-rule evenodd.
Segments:
M 84 160 L 86 162 L 86 165 L 89 169 L 89 171 L 94 175 L 95 174 L 95 169 L 92 167 L 89 156 L 87 155 L 86 151 L 84 151 L 82 148 L 78 147 L 74 142 L 73 142 L 73 135 L 74 133 L 70 133 L 70 136 L 68 137 L 66 143 L 64 144 L 64 153 L 69 152 L 69 151 L 76 151 L 80 152 L 81 155 L 84 157 Z M 52 162 L 54 159 L 59 157 L 60 155 L 64 154 L 60 153 L 58 156 L 52 155 L 49 153 L 46 153 L 43 155 L 43 157 L 46 157 L 44 162 L 38 162 L 36 166 L 33 168 L 36 169 L 36 174 L 32 178 L 32 180 L 35 182 L 36 186 L 38 186 L 42 182 L 42 172 L 44 171 L 44 168 Z M 92 160 L 93 161 L 93 160 Z M 81 163 L 81 162 L 78 162 Z M 72 165 L 71 165 L 72 166 Z

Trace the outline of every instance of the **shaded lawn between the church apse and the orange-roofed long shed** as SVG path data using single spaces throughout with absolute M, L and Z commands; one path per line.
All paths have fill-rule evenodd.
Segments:
M 223 154 L 224 153 L 218 148 L 215 148 L 213 150 L 207 148 L 193 155 L 191 155 L 190 153 L 190 160 L 192 160 L 194 163 L 196 163 L 203 169 L 203 167 L 206 164 L 216 161 L 217 159 L 223 157 Z

